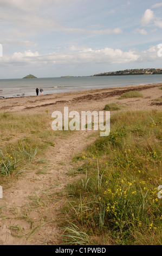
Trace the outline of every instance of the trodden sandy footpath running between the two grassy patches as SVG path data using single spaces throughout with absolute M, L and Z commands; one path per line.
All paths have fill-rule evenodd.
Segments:
M 66 201 L 64 187 L 75 179 L 68 175 L 72 168 L 70 162 L 94 140 L 88 138 L 90 133 L 75 131 L 67 139 L 57 139 L 55 147 L 50 147 L 46 154 L 50 163 L 48 174 L 29 172 L 4 190 L 0 202 L 0 207 L 5 205 L 0 214 L 1 245 L 58 244 L 62 230 L 57 227 L 57 221 Z

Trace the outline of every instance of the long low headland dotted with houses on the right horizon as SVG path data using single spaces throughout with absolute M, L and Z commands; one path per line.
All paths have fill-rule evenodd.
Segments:
M 105 72 L 92 76 L 126 76 L 126 75 L 160 75 L 162 69 L 126 69 L 113 72 Z

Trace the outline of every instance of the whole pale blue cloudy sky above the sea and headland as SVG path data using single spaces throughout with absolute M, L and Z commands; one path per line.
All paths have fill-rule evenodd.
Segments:
M 0 22 L 0 79 L 162 68 L 162 1 L 0 0 Z

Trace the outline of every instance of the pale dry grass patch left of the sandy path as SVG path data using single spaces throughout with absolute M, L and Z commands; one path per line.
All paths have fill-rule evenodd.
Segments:
M 48 147 L 55 147 L 55 139 L 69 131 L 53 131 L 53 119 L 44 114 L 0 114 L 0 178 L 22 173 L 38 157 L 44 157 Z M 66 135 L 64 134 L 66 132 Z

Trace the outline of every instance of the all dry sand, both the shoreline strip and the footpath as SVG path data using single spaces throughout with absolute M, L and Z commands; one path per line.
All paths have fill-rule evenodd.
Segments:
M 63 112 L 64 106 L 69 107 L 69 111 L 102 111 L 103 107 L 111 102 L 125 106 L 125 110 L 161 109 L 162 103 L 154 101 L 162 96 L 160 87 L 162 83 L 3 99 L 0 100 L 0 112 L 41 114 L 48 110 L 51 114 L 56 110 Z M 122 93 L 131 90 L 140 91 L 144 97 L 118 99 Z M 77 179 L 69 176 L 68 170 L 73 168 L 72 157 L 94 141 L 95 137 L 89 137 L 92 132 L 76 131 L 66 139 L 58 138 L 55 147 L 50 147 L 46 154 L 50 164 L 47 167 L 48 174 L 36 175 L 35 172 L 29 172 L 4 190 L 3 199 L 0 199 L 0 245 L 57 245 L 59 243 L 62 230 L 58 227 L 57 220 L 60 209 L 66 202 L 64 187 Z M 29 203 L 31 203 L 29 197 L 35 196 L 34 193 L 37 198 L 44 195 L 42 193 L 53 194 L 53 196 L 51 200 L 42 197 L 37 209 L 29 209 Z M 1 212 L 3 205 L 5 207 Z M 31 233 L 31 226 L 33 226 L 33 233 Z M 21 227 L 21 231 L 18 227 Z

